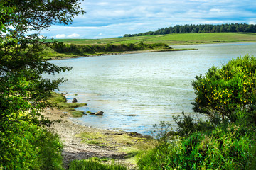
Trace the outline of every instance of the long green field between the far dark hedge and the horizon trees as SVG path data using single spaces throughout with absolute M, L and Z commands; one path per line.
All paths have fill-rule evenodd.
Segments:
M 168 45 L 186 45 L 203 43 L 250 42 L 256 41 L 256 33 L 180 33 L 168 35 L 146 35 L 129 38 L 103 38 L 103 39 L 56 39 L 58 42 L 78 45 L 92 44 L 128 44 L 139 42 L 158 43 Z

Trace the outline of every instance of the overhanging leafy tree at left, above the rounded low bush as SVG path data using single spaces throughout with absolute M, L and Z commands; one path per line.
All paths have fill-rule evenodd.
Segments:
M 49 105 L 46 99 L 50 91 L 58 89 L 63 79 L 50 81 L 41 74 L 70 68 L 43 61 L 40 52 L 47 43 L 39 33 L 53 23 L 71 23 L 74 16 L 84 13 L 79 5 L 78 0 L 0 2 L 1 121 L 11 123 L 17 120 L 18 114 L 26 112 L 23 119 L 36 124 L 45 120 L 38 120 L 41 117 L 38 111 Z M 13 113 L 11 117 L 10 113 Z M 1 125 L 0 130 L 4 130 Z

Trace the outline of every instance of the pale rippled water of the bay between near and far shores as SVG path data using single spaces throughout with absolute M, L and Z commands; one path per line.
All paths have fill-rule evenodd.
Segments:
M 198 50 L 50 61 L 73 67 L 55 76 L 68 79 L 60 86 L 60 92 L 68 93 L 68 101 L 75 97 L 87 103 L 79 110 L 105 112 L 73 120 L 96 128 L 149 134 L 155 123 L 173 122 L 172 115 L 194 114 L 191 81 L 196 75 L 231 58 L 256 56 L 256 42 L 172 47 Z

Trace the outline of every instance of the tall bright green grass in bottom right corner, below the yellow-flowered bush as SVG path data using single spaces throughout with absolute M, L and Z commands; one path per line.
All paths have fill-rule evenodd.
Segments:
M 141 154 L 139 169 L 255 169 L 255 128 L 232 123 Z

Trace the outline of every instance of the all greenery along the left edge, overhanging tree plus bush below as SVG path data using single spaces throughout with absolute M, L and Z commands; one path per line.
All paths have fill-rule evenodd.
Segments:
M 50 92 L 63 79 L 50 81 L 42 74 L 70 67 L 43 60 L 40 52 L 47 43 L 39 33 L 80 13 L 78 0 L 0 1 L 0 167 L 60 169 L 58 137 L 41 128 L 52 122 L 40 112 L 50 106 Z

